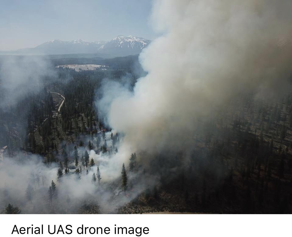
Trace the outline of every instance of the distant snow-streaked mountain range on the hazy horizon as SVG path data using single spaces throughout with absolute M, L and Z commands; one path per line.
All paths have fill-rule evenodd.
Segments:
M 110 41 L 49 40 L 34 48 L 0 51 L 0 54 L 100 54 L 100 57 L 120 57 L 139 54 L 151 42 L 141 37 L 119 35 Z

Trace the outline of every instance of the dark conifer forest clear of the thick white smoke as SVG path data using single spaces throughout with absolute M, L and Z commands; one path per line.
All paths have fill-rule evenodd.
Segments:
M 99 116 L 96 101 L 101 99 L 101 88 L 106 81 L 115 81 L 132 90 L 145 72 L 137 56 L 52 59 L 53 66 L 69 63 L 109 67 L 80 72 L 54 68 L 56 74 L 43 78 L 41 91 L 1 108 L 0 146 L 8 146 L 8 159 L 12 160 L 19 157 L 17 154 L 24 155 L 23 159 L 30 154 L 39 155 L 42 163 L 58 167 L 55 173 L 58 182 L 66 175 L 83 179 L 94 170 L 88 183 L 98 183 L 99 187 L 103 185 L 99 166 L 105 161 L 95 164 L 92 152 L 110 160 L 118 153 L 122 139 L 122 134 L 112 133 Z M 110 196 L 118 188 L 128 201 L 113 209 L 101 208 L 99 202 L 92 201 L 93 197 L 86 197 L 86 205 L 77 210 L 69 207 L 65 210 L 62 206 L 63 212 L 291 213 L 292 90 L 287 88 L 276 99 L 255 99 L 252 93 L 238 95 L 223 110 L 215 111 L 207 120 L 194 121 L 196 132 L 188 138 L 193 143 L 191 151 L 163 151 L 150 163 L 143 162 L 147 151 L 137 154 L 133 151 L 128 162 L 120 167 L 120 179 L 104 184 L 103 190 Z M 29 201 L 32 189 L 39 190 L 36 182 L 38 187 L 44 182 L 40 181 L 42 175 L 32 171 L 33 181 L 26 189 Z M 143 183 L 145 190 L 137 191 L 140 180 L 149 177 L 159 177 L 159 182 Z M 52 191 L 58 184 L 51 184 L 51 207 L 40 210 L 41 213 L 61 208 Z M 113 197 L 109 200 L 117 202 Z M 16 200 L 16 204 L 22 203 Z

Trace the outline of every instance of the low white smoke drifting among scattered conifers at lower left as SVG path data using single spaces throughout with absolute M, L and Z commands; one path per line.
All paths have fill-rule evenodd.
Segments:
M 83 137 L 88 143 L 89 137 Z M 110 132 L 106 133 L 106 139 L 110 144 Z M 103 145 L 103 141 L 100 142 Z M 73 156 L 73 147 L 68 146 L 69 157 Z M 86 210 L 93 213 L 112 213 L 116 209 L 127 204 L 130 200 L 141 194 L 146 187 L 152 187 L 158 183 L 158 177 L 148 176 L 139 179 L 138 173 L 128 173 L 129 193 L 124 195 L 120 188 L 120 174 L 125 151 L 121 148 L 117 154 L 96 154 L 94 150 L 85 147 L 78 148 L 79 156 L 85 150 L 95 162 L 95 166 L 83 168 L 79 161 L 78 168 L 81 174 L 76 174 L 73 163 L 69 163 L 69 174 L 57 180 L 58 163 L 44 164 L 43 157 L 38 155 L 18 154 L 13 158 L 5 157 L 0 163 L 0 213 L 8 203 L 22 209 L 22 213 L 84 213 Z M 101 173 L 100 186 L 98 181 L 92 182 L 93 173 L 97 173 L 97 165 Z M 88 174 L 86 173 L 88 171 Z M 57 186 L 57 196 L 53 198 L 51 206 L 48 199 L 48 188 L 51 181 Z M 118 182 L 117 182 L 118 180 Z M 33 187 L 32 200 L 27 200 L 26 188 L 30 184 Z

